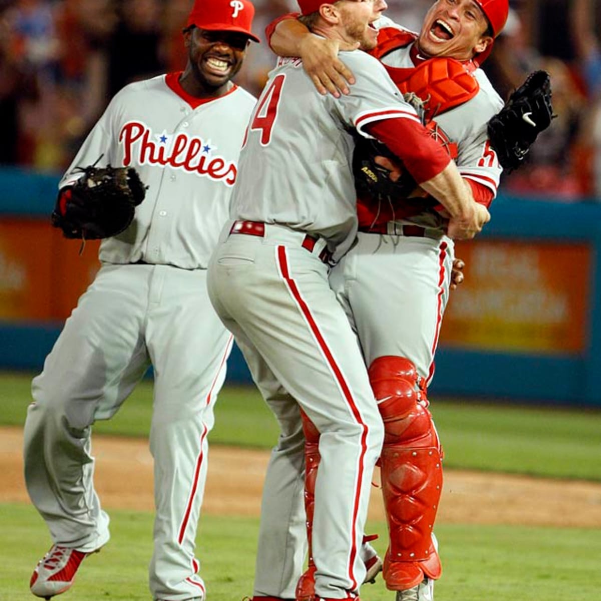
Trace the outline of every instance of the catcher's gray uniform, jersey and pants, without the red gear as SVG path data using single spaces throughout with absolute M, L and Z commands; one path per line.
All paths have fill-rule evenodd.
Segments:
M 380 28 L 392 24 L 386 17 L 378 23 Z M 415 68 L 411 48 L 392 50 L 381 60 L 391 67 Z M 483 70 L 474 75 L 480 90 L 436 116 L 437 135 L 457 144 L 462 176 L 496 195 L 501 166 L 486 124 L 503 102 Z M 402 208 L 400 200 L 400 212 Z M 403 225 L 413 224 L 423 226 L 426 235 L 403 236 Z M 358 333 L 367 365 L 385 355 L 406 357 L 427 383 L 432 380 L 453 259 L 453 240 L 444 235 L 444 221 L 432 211 L 390 222 L 387 234 L 359 232 L 356 246 L 334 267 L 330 281 Z

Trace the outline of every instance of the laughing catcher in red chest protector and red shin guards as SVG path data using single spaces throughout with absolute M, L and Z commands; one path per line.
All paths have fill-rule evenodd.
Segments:
M 493 200 L 501 173 L 486 124 L 503 103 L 479 67 L 507 13 L 507 0 L 438 0 L 419 35 L 382 17 L 372 52 L 398 90 L 429 100 L 425 106 L 433 137 L 456 158 L 474 198 L 484 206 Z M 314 47 L 327 54 L 325 43 L 296 20 L 275 22 L 268 35 L 275 26 L 271 43 L 279 54 L 304 59 Z M 309 40 L 308 46 L 303 39 Z M 311 78 L 322 91 L 337 85 L 348 92 L 340 81 L 332 82 L 337 73 L 350 78 L 346 67 L 325 55 L 319 60 L 312 55 L 307 63 L 319 63 L 319 72 Z M 444 212 L 437 208 L 420 206 L 415 198 L 398 198 L 392 205 L 360 198 L 358 242 L 330 275 L 358 334 L 385 425 L 380 468 L 390 545 L 384 578 L 388 588 L 397 591 L 397 601 L 432 600 L 433 581 L 441 575 L 432 528 L 442 487 L 442 450 L 426 391 L 451 285 L 453 240 L 445 234 Z M 307 416 L 303 418 L 311 537 L 319 432 Z M 297 599 L 313 598 L 314 570 L 310 557 Z

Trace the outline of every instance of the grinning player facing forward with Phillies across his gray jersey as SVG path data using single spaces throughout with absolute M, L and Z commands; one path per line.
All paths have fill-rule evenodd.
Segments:
M 53 545 L 31 577 L 38 597 L 63 593 L 109 540 L 94 491 L 91 427 L 110 419 L 154 367 L 155 600 L 201 600 L 194 557 L 207 474 L 207 433 L 232 337 L 206 287 L 228 217 L 255 99 L 231 81 L 252 34 L 248 0 L 197 0 L 180 73 L 127 85 L 112 99 L 59 183 L 80 167 L 133 166 L 148 186 L 132 225 L 100 246 L 102 266 L 32 383 L 25 480 Z

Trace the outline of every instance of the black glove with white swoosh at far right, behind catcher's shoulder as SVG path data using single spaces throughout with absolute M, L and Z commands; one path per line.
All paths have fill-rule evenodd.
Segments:
M 532 142 L 553 117 L 551 78 L 546 71 L 535 71 L 488 123 L 490 144 L 506 171 L 522 165 Z

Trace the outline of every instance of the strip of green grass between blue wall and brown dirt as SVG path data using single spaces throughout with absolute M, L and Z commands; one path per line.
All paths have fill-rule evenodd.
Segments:
M 0 424 L 22 425 L 31 374 L 0 375 Z M 433 399 L 447 468 L 601 481 L 601 411 L 540 409 Z M 94 433 L 146 436 L 152 383 L 144 381 L 114 419 Z M 254 388 L 226 386 L 215 409 L 213 444 L 270 448 L 278 427 Z

